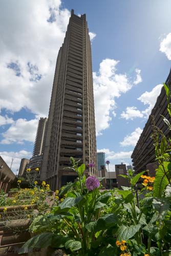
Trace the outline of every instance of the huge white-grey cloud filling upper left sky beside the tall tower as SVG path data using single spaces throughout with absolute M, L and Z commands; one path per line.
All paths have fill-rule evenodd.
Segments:
M 56 58 L 70 15 L 60 0 L 2 3 L 0 110 L 27 108 L 48 115 Z

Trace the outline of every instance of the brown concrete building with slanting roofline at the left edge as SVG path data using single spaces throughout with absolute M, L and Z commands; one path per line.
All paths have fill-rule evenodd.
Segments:
M 16 182 L 17 178 L 4 159 L 0 156 L 0 190 L 5 192 L 10 190 L 11 184 Z

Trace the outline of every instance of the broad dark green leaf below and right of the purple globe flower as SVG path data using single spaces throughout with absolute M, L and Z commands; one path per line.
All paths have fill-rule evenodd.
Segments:
M 100 230 L 108 229 L 116 223 L 119 223 L 119 221 L 115 214 L 106 214 L 101 216 L 97 221 L 90 222 L 85 227 L 89 231 L 98 232 Z

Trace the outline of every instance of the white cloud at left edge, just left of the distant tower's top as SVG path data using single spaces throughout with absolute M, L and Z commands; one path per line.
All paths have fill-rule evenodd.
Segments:
M 13 122 L 9 129 L 2 133 L 4 139 L 1 144 L 11 144 L 13 142 L 24 144 L 24 141 L 34 142 L 36 137 L 38 119 L 27 121 L 26 119 L 18 119 Z

